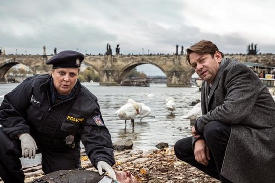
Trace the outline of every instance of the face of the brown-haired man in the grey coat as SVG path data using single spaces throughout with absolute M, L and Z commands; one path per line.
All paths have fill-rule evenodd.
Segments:
M 195 69 L 195 72 L 200 78 L 209 83 L 213 83 L 221 61 L 222 55 L 218 51 L 216 51 L 214 57 L 210 54 L 199 55 L 196 52 L 190 54 L 191 66 Z

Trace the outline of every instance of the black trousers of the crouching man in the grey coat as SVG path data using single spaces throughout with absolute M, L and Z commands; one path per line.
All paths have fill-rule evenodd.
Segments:
M 222 182 L 230 182 L 221 176 L 222 164 L 230 132 L 230 126 L 218 121 L 212 121 L 205 126 L 204 139 L 209 146 L 211 158 L 207 166 L 195 160 L 192 147 L 193 137 L 178 140 L 174 145 L 175 155 L 178 159 L 193 165 L 211 177 L 221 180 Z

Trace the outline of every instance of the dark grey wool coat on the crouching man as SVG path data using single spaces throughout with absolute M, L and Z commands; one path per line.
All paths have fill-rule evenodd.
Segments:
M 203 82 L 201 102 L 198 132 L 211 121 L 232 127 L 221 174 L 232 182 L 275 182 L 275 101 L 258 76 L 223 58 L 211 88 Z

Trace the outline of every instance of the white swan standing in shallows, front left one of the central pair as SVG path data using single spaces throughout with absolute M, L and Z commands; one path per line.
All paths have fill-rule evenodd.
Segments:
M 116 111 L 117 116 L 125 120 L 125 126 L 126 126 L 126 120 L 131 120 L 131 122 L 134 122 L 134 117 L 140 113 L 140 106 L 132 99 L 128 99 L 127 103 L 121 106 L 120 109 Z

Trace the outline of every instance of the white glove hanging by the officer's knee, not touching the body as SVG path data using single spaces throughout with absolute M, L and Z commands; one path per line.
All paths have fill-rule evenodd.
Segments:
M 34 159 L 37 146 L 33 137 L 28 133 L 24 133 L 19 136 L 19 139 L 21 140 L 22 156 L 29 159 L 33 156 Z

